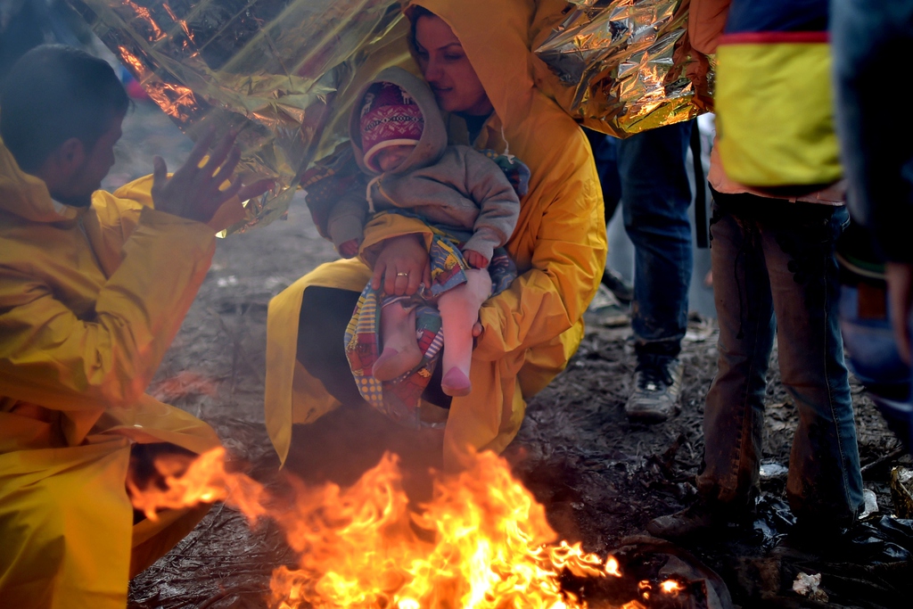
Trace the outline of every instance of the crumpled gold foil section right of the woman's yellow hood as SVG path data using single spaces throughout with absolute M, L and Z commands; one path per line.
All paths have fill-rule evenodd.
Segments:
M 690 47 L 688 0 L 578 0 L 534 50 L 584 125 L 625 137 L 712 110 L 708 58 Z

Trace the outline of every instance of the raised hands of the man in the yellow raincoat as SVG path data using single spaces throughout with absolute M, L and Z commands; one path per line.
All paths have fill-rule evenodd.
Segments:
M 181 168 L 170 178 L 163 158 L 156 156 L 152 173 L 152 201 L 155 209 L 207 223 L 219 207 L 232 197 L 237 196 L 240 201 L 247 201 L 266 193 L 273 185 L 272 180 L 259 180 L 246 186 L 240 178 L 232 176 L 241 160 L 241 152 L 235 146 L 236 137 L 236 132 L 228 132 L 213 145 L 215 132 L 205 132 Z M 207 152 L 209 159 L 201 167 L 200 163 Z M 219 186 L 226 181 L 229 181 L 228 187 L 219 190 Z

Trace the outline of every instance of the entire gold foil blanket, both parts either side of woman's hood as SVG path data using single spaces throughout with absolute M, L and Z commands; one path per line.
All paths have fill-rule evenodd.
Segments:
M 286 213 L 301 173 L 348 138 L 363 82 L 393 65 L 415 70 L 395 0 L 68 3 L 182 130 L 239 131 L 242 171 L 277 179 L 228 233 Z M 534 5 L 537 85 L 575 120 L 624 137 L 708 109 L 687 0 Z

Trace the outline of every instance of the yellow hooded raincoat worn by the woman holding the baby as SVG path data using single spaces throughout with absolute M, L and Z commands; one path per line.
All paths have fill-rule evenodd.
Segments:
M 520 276 L 480 311 L 484 331 L 473 352 L 472 393 L 455 397 L 445 431 L 445 465 L 469 445 L 503 450 L 516 436 L 526 400 L 567 365 L 583 335 L 582 315 L 603 274 L 602 191 L 582 130 L 534 88 L 530 71 L 531 3 L 522 0 L 418 0 L 451 26 L 495 113 L 476 148 L 509 152 L 527 163 L 530 192 L 507 248 Z M 456 119 L 452 124 L 462 121 Z M 462 141 L 451 130 L 454 143 Z M 509 144 L 509 151 L 507 150 Z M 370 232 L 362 251 L 388 236 L 427 228 L 394 216 Z M 339 404 L 295 359 L 301 297 L 309 286 L 361 291 L 371 271 L 358 259 L 321 265 L 269 304 L 266 420 L 284 461 L 293 423 L 311 423 Z

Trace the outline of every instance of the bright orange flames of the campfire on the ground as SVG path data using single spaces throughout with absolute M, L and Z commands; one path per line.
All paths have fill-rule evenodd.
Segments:
M 150 519 L 160 509 L 224 500 L 251 523 L 278 522 L 299 557 L 295 568 L 273 572 L 270 606 L 279 609 L 583 608 L 582 593 L 566 580 L 622 577 L 614 557 L 556 541 L 543 507 L 492 453 L 473 457 L 459 475 L 439 476 L 433 498 L 417 511 L 390 454 L 351 488 L 297 485 L 290 504 L 227 472 L 221 448 L 185 470 L 168 471 L 167 461 L 156 466 L 167 489 L 133 491 L 134 507 Z M 635 590 L 627 598 L 637 600 L 600 606 L 645 607 L 654 604 L 651 596 L 672 598 L 682 585 L 642 581 Z

